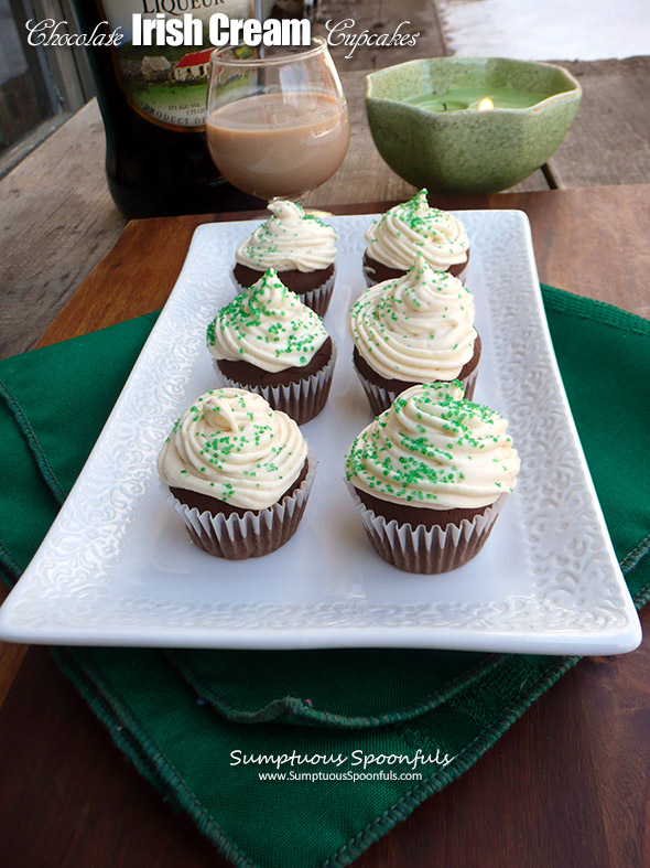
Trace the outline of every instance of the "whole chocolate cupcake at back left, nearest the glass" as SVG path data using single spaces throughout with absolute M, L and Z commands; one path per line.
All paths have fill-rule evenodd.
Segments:
M 273 216 L 253 232 L 235 254 L 232 280 L 238 290 L 257 282 L 268 268 L 285 287 L 324 317 L 336 278 L 336 233 L 293 202 L 270 202 Z

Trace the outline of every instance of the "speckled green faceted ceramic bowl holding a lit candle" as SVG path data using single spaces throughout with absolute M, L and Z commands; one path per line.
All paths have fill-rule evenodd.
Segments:
M 490 111 L 431 111 L 403 101 L 476 86 L 548 96 L 529 108 Z M 379 153 L 404 181 L 441 193 L 495 193 L 528 178 L 566 136 L 581 96 L 578 82 L 561 66 L 499 57 L 409 61 L 366 76 Z

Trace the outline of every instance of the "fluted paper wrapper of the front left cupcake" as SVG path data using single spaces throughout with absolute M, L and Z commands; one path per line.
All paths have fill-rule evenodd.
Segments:
M 192 540 L 208 555 L 228 560 L 257 558 L 283 546 L 295 534 L 301 522 L 314 478 L 316 456 L 307 451 L 307 474 L 293 494 L 284 495 L 266 510 L 251 510 L 243 515 L 213 515 L 189 508 L 170 494 L 172 506 Z

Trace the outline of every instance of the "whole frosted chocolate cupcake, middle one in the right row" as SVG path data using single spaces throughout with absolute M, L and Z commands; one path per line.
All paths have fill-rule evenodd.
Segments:
M 416 383 L 459 379 L 474 396 L 480 337 L 472 292 L 421 254 L 404 277 L 367 289 L 353 306 L 353 361 L 375 415 Z

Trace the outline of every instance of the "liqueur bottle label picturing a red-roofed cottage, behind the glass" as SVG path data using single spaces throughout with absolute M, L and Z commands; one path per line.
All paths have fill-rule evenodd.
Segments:
M 209 57 L 209 17 L 250 18 L 251 0 L 99 0 L 110 30 L 120 28 L 121 45 L 111 49 L 120 87 L 130 106 L 147 120 L 173 130 L 205 129 Z M 203 45 L 147 45 L 131 41 L 133 12 L 176 18 L 191 12 L 203 23 Z

